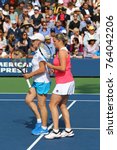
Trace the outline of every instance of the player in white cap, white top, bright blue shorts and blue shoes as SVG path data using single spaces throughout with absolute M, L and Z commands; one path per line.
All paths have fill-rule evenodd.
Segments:
M 46 98 L 50 89 L 50 77 L 45 59 L 42 55 L 43 49 L 40 46 L 41 43 L 45 40 L 44 36 L 40 33 L 35 33 L 30 37 L 30 39 L 32 40 L 35 54 L 32 59 L 32 72 L 24 74 L 24 77 L 26 79 L 33 78 L 33 84 L 26 95 L 25 101 L 37 118 L 37 123 L 35 128 L 32 130 L 32 134 L 40 135 L 48 133 L 48 112 L 46 108 Z M 34 102 L 35 97 L 37 97 L 38 106 Z M 40 113 L 38 109 L 40 110 Z

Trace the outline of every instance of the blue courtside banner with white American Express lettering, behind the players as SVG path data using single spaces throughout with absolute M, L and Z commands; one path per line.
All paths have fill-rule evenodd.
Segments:
M 100 76 L 100 59 L 71 59 L 74 76 Z M 20 65 L 17 63 L 17 65 Z M 31 71 L 31 59 L 27 72 Z M 22 76 L 21 72 L 13 67 L 10 59 L 0 59 L 0 76 Z

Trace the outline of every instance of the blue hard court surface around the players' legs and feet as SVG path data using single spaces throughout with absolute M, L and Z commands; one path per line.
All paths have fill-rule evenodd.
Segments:
M 36 119 L 24 99 L 25 94 L 0 94 L 0 150 L 100 150 L 100 95 L 71 96 L 67 107 L 75 136 L 53 140 L 31 134 Z M 61 114 L 59 122 L 63 130 Z

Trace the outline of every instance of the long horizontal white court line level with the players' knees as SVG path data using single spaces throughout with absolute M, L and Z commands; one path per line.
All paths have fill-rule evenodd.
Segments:
M 0 99 L 0 102 L 24 102 L 24 99 Z M 35 100 L 36 101 L 36 100 Z M 47 100 L 50 101 L 50 100 Z M 74 100 L 68 100 L 69 102 L 72 102 Z M 100 102 L 100 100 L 76 100 L 77 102 Z

